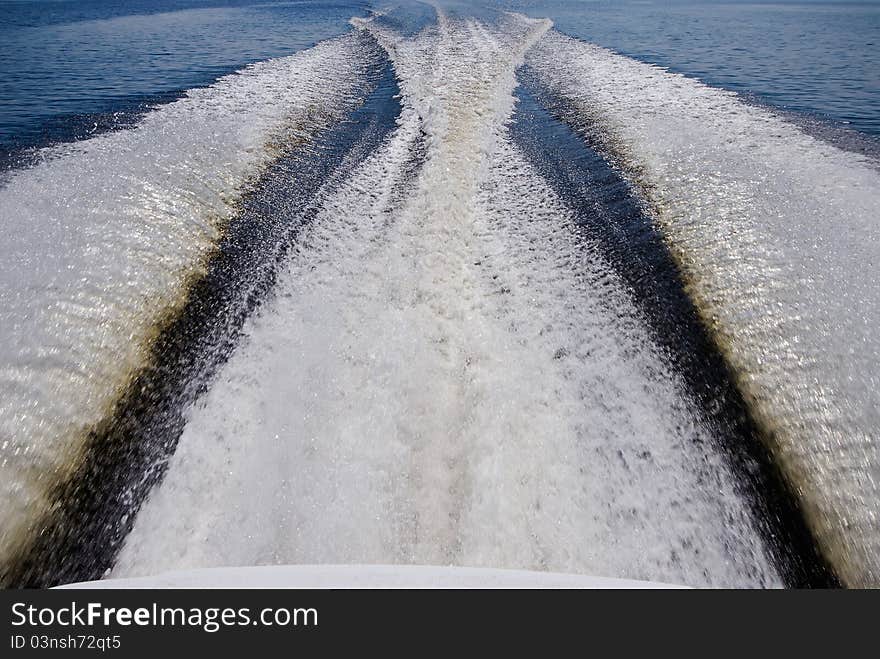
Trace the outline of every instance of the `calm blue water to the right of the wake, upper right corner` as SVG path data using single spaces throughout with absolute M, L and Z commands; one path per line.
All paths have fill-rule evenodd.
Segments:
M 880 135 L 880 1 L 499 0 L 557 29 Z

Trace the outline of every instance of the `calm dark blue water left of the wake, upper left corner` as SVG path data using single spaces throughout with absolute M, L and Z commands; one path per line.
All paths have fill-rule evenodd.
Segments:
M 151 103 L 337 35 L 365 6 L 0 0 L 0 158 L 129 123 Z

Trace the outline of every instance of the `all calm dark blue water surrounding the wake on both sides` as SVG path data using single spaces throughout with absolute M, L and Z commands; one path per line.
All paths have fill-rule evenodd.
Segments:
M 0 0 L 0 163 L 23 147 L 128 125 L 154 103 L 339 34 L 371 4 L 383 3 Z M 466 13 L 475 3 L 444 4 Z M 880 0 L 478 4 L 548 16 L 626 55 L 880 135 Z

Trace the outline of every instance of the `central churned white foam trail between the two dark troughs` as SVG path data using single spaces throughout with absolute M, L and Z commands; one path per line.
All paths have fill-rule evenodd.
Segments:
M 509 139 L 549 22 L 357 25 L 392 58 L 398 126 L 324 191 L 114 576 L 418 563 L 778 584 L 626 290 Z

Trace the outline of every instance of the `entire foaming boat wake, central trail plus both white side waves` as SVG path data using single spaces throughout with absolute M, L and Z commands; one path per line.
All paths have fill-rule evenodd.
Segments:
M 122 502 L 100 522 L 115 544 L 80 580 L 374 563 L 778 586 L 794 559 L 772 537 L 803 520 L 770 518 L 803 512 L 846 583 L 876 583 L 876 168 L 546 20 L 438 9 L 418 29 L 393 13 L 353 25 L 0 189 L 19 222 L 0 279 L 0 487 L 15 502 L 0 559 L 53 524 L 53 488 L 118 421 L 156 337 L 180 331 L 166 319 L 195 306 L 234 338 L 169 362 L 165 379 L 197 384 L 144 426 L 162 436 L 151 479 L 134 469 L 102 495 Z M 327 160 L 314 145 L 374 111 L 386 61 L 386 128 L 355 131 L 311 188 L 304 165 L 272 169 Z M 566 164 L 530 146 L 520 81 L 610 163 L 604 206 L 579 205 Z M 627 203 L 642 228 L 603 215 Z M 236 291 L 253 287 L 245 261 L 272 271 L 230 329 L 227 298 L 202 304 L 192 282 L 249 240 L 223 242 L 234 217 L 297 229 L 222 271 Z M 626 248 L 637 230 L 676 259 L 663 282 L 622 263 L 648 249 Z M 726 362 L 712 376 L 730 368 L 746 412 L 694 391 L 657 329 L 664 304 L 680 313 L 663 286 L 691 296 Z M 764 467 L 731 459 L 745 449 L 721 408 L 748 417 L 731 427 L 757 421 L 796 499 L 783 486 L 756 505 L 768 495 L 746 472 Z M 114 455 L 100 473 L 125 470 Z M 44 579 L 64 573 L 34 556 Z

